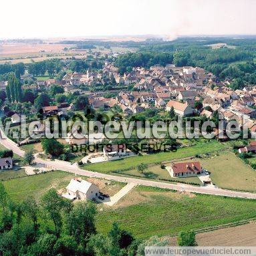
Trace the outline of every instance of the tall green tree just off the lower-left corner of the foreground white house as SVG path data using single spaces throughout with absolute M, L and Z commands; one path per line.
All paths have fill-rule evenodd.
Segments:
M 54 188 L 50 188 L 47 193 L 41 197 L 41 205 L 53 221 L 55 235 L 57 237 L 59 237 L 62 227 L 61 211 L 66 208 L 67 203 L 68 202 L 57 195 L 57 191 Z

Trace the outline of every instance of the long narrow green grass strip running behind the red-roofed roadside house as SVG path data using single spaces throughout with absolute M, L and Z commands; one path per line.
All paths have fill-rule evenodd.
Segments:
M 160 152 L 157 154 L 146 154 L 144 156 L 132 156 L 129 158 L 124 158 L 122 160 L 100 162 L 96 164 L 86 164 L 82 168 L 97 172 L 110 173 L 113 170 L 136 168 L 136 166 L 142 162 L 144 162 L 145 164 L 160 163 L 176 158 L 184 158 L 188 156 L 195 156 L 196 154 L 215 152 L 228 148 L 229 146 L 229 143 L 221 143 L 217 142 L 217 140 L 211 140 L 210 142 L 203 140 L 202 142 L 198 142 L 195 146 L 180 148 L 176 152 Z

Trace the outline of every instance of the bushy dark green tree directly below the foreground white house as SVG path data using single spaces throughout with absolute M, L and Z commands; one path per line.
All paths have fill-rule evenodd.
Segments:
M 75 237 L 77 243 L 86 245 L 88 237 L 96 233 L 96 213 L 96 205 L 87 201 L 74 205 L 72 211 L 67 215 L 68 233 Z

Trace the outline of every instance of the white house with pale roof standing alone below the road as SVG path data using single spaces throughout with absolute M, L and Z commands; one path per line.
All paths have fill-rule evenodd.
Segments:
M 67 186 L 67 194 L 63 195 L 68 199 L 92 200 L 100 195 L 99 187 L 82 178 L 72 178 Z

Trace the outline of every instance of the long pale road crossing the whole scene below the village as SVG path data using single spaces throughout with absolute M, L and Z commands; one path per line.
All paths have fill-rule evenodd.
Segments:
M 15 144 L 9 138 L 3 139 L 0 136 L 0 144 L 9 148 L 18 154 L 19 156 L 24 155 L 24 151 Z M 35 157 L 35 162 L 45 164 L 49 166 L 53 170 L 63 170 L 65 172 L 71 172 L 78 175 L 89 176 L 94 178 L 105 178 L 106 180 L 116 180 L 120 182 L 132 182 L 134 184 L 140 184 L 144 186 L 156 186 L 158 188 L 168 188 L 172 190 L 178 191 L 187 191 L 191 193 L 200 193 L 200 194 L 207 194 L 207 195 L 218 195 L 218 196 L 226 196 L 226 197 L 241 197 L 246 199 L 256 199 L 256 193 L 246 193 L 246 192 L 239 192 L 233 190 L 225 190 L 221 188 L 214 188 L 212 186 L 191 186 L 188 184 L 171 184 L 167 182 L 158 182 L 154 180 L 146 180 L 140 178 L 132 178 L 132 177 L 124 177 L 124 176 L 116 176 L 110 174 L 104 174 L 100 172 L 92 172 L 90 170 L 83 170 L 79 168 L 76 164 L 70 164 L 69 162 L 60 161 L 60 160 L 43 160 L 41 158 Z

